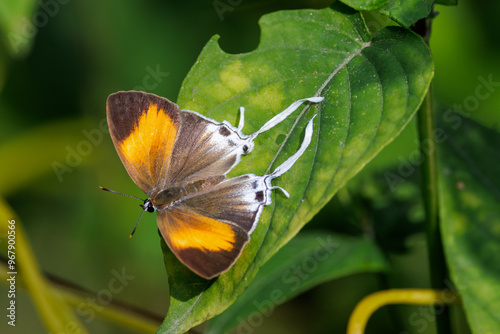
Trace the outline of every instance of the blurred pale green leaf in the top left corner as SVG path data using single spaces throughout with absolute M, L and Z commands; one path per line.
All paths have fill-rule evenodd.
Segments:
M 59 4 L 55 2 L 55 6 L 58 8 Z M 5 34 L 4 41 L 14 56 L 24 56 L 31 48 L 38 29 L 47 24 L 52 13 L 56 14 L 55 8 L 46 5 L 50 12 L 42 10 L 39 15 L 32 15 L 36 7 L 36 0 L 0 2 L 0 28 Z

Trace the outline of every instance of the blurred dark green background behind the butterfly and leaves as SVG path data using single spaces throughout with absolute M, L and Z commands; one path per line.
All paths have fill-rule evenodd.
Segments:
M 217 10 L 215 3 L 228 7 Z M 103 127 L 105 102 L 109 94 L 130 89 L 175 101 L 212 35 L 221 35 L 221 47 L 227 52 L 247 52 L 258 44 L 261 15 L 322 8 L 330 1 L 232 3 L 237 5 L 2 0 L 0 192 L 21 219 L 45 272 L 97 293 L 107 287 L 114 270 L 124 270 L 134 278 L 113 299 L 159 319 L 166 314 L 168 284 L 155 215 L 145 215 L 129 239 L 140 203 L 98 188 L 144 197 Z M 480 77 L 500 82 L 500 3 L 460 1 L 458 7 L 436 10 L 431 49 L 438 111 L 462 106 L 472 118 L 498 130 L 500 94 L 474 96 Z M 370 15 L 370 20 L 372 27 L 378 24 L 377 16 Z M 317 287 L 275 309 L 258 333 L 342 333 L 364 295 L 388 285 L 428 287 L 418 173 L 392 190 L 384 177 L 386 170 L 397 168 L 416 149 L 416 128 L 410 123 L 306 227 L 373 237 L 392 270 Z M 0 235 L 2 254 L 5 245 L 5 235 Z M 6 291 L 0 285 L 1 300 Z M 2 321 L 0 331 L 44 333 L 29 296 L 20 291 L 17 301 L 15 330 Z M 404 306 L 377 311 L 367 333 L 433 333 L 432 321 L 424 328 L 410 320 L 420 310 Z M 98 318 L 84 316 L 82 321 L 91 333 L 128 333 Z

